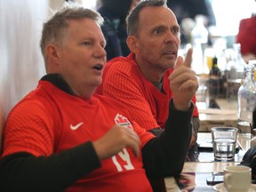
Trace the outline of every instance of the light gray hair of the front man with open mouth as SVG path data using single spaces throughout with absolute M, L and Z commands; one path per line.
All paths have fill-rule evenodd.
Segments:
M 84 18 L 92 19 L 100 26 L 104 21 L 99 12 L 75 4 L 68 4 L 60 11 L 56 12 L 50 20 L 44 23 L 40 46 L 44 56 L 45 67 L 47 57 L 45 48 L 47 44 L 63 45 L 68 29 L 68 20 L 82 20 Z

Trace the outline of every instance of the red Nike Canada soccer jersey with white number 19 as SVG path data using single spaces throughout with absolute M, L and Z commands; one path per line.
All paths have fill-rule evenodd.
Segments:
M 8 116 L 4 156 L 20 151 L 51 156 L 98 140 L 114 124 L 137 132 L 141 148 L 154 137 L 132 122 L 124 106 L 115 100 L 100 95 L 84 100 L 40 81 L 36 91 L 21 100 Z M 130 148 L 100 163 L 99 169 L 77 180 L 67 191 L 152 191 L 142 157 L 134 156 Z

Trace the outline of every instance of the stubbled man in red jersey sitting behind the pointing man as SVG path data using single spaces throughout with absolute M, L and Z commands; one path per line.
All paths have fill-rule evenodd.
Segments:
M 126 22 L 126 43 L 132 53 L 108 61 L 103 82 L 96 92 L 123 102 L 141 127 L 157 134 L 165 127 L 169 100 L 175 96 L 169 76 L 176 61 L 182 62 L 181 57 L 177 60 L 180 27 L 164 0 L 152 1 L 152 4 L 141 2 Z M 179 100 L 183 100 L 182 97 L 185 95 L 180 95 Z M 195 96 L 192 100 L 196 104 Z M 198 116 L 195 105 L 190 147 L 196 144 Z

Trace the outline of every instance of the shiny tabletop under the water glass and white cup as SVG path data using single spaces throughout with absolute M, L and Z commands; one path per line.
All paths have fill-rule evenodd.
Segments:
M 210 132 L 199 132 L 198 142 L 209 138 Z M 239 137 L 238 137 L 239 138 Z M 239 144 L 245 143 L 244 137 L 239 138 Z M 183 170 L 180 174 L 180 178 L 169 177 L 165 178 L 165 186 L 167 192 L 182 192 L 184 186 L 180 186 L 180 180 L 182 185 L 182 180 L 189 180 L 187 185 L 188 191 L 193 192 L 214 192 L 213 186 L 207 185 L 206 178 L 211 177 L 214 172 L 223 172 L 223 169 L 227 165 L 240 164 L 243 159 L 245 151 L 244 146 L 240 148 L 239 152 L 236 153 L 234 162 L 215 162 L 212 152 L 200 152 L 197 162 L 186 162 L 184 164 Z M 185 178 L 185 179 L 184 179 Z M 177 184 L 179 183 L 179 185 Z M 215 191 L 216 192 L 216 191 Z

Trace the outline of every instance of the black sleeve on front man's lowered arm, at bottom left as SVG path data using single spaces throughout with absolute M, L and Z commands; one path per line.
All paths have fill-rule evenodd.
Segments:
M 0 161 L 0 191 L 63 191 L 99 167 L 90 141 L 52 156 L 19 152 Z

